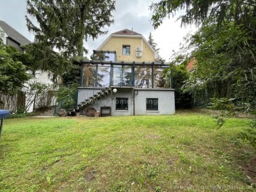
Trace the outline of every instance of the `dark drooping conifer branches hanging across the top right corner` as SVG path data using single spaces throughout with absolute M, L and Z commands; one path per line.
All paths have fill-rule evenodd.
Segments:
M 182 24 L 199 25 L 206 19 L 214 19 L 219 24 L 224 20 L 236 20 L 238 24 L 243 24 L 255 33 L 256 3 L 253 0 L 162 0 L 159 3 L 152 3 L 150 9 L 154 11 L 154 28 L 163 22 L 164 17 L 185 10 L 179 17 Z

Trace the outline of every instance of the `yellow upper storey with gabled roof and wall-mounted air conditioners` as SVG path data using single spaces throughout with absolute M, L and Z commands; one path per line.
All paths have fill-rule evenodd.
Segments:
M 159 58 L 143 35 L 129 29 L 112 33 L 94 51 L 95 55 L 103 57 L 104 52 L 115 52 L 115 60 L 112 58 L 111 61 L 154 62 Z

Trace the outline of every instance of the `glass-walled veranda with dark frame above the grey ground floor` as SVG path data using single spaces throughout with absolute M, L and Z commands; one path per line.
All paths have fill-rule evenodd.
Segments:
M 163 78 L 166 67 L 163 63 L 84 61 L 81 87 L 167 88 L 168 80 Z

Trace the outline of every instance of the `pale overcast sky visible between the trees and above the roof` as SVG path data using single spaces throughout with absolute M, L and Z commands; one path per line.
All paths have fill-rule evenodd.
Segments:
M 141 33 L 147 40 L 149 33 L 152 33 L 154 42 L 157 43 L 157 48 L 160 48 L 159 54 L 166 61 L 169 60 L 172 50 L 177 51 L 182 38 L 189 31 L 195 31 L 194 26 L 180 28 L 180 20 L 176 18 L 166 18 L 163 24 L 154 30 L 150 18 L 152 12 L 149 10 L 152 2 L 156 3 L 159 0 L 116 0 L 116 10 L 113 12 L 114 24 L 108 30 L 107 35 L 99 36 L 96 40 L 89 39 L 85 42 L 85 47 L 88 49 L 89 56 L 93 49 L 97 49 L 111 33 L 121 31 L 122 29 L 132 29 L 137 33 Z M 26 27 L 26 1 L 25 0 L 1 0 L 0 20 L 8 23 L 12 28 L 19 31 L 29 40 L 33 41 L 33 34 L 29 33 Z

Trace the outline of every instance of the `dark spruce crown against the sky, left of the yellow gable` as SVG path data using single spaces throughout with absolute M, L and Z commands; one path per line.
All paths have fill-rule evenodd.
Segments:
M 113 10 L 115 1 L 111 0 L 27 0 L 26 20 L 39 42 L 56 47 L 67 57 L 83 56 L 87 52 L 84 40 L 107 32 L 102 28 L 113 23 Z

